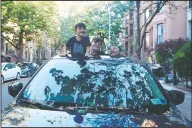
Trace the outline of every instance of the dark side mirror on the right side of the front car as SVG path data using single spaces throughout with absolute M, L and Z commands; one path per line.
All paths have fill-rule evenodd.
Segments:
M 175 103 L 176 105 L 183 103 L 185 99 L 185 93 L 178 90 L 169 91 L 169 96 L 171 97 L 173 103 Z

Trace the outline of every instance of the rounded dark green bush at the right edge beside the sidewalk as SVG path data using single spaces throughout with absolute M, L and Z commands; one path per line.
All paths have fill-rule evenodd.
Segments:
M 173 66 L 180 77 L 191 77 L 191 43 L 186 43 L 173 57 Z

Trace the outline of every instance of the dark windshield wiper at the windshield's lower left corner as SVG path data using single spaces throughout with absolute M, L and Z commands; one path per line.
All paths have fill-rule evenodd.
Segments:
M 60 109 L 57 109 L 53 106 L 47 105 L 47 104 L 42 103 L 42 102 L 28 101 L 28 100 L 24 100 L 24 99 L 20 99 L 19 101 L 22 101 L 23 103 L 26 103 L 28 105 L 33 105 L 33 106 L 38 107 L 40 109 L 61 111 Z

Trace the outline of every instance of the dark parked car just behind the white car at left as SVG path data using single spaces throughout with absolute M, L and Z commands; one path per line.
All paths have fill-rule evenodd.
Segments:
M 21 77 L 30 77 L 32 76 L 37 69 L 39 68 L 39 65 L 36 63 L 18 63 L 17 66 L 21 67 Z

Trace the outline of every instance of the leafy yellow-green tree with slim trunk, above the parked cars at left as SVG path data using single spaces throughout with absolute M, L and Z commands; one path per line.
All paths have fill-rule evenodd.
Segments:
M 38 31 L 50 32 L 53 23 L 52 17 L 55 13 L 53 2 L 3 2 L 3 30 L 7 30 L 8 23 L 15 25 L 18 31 L 6 31 L 18 37 L 19 62 L 23 62 L 23 39 L 35 38 Z M 45 6 L 46 5 L 46 6 Z M 6 16 L 8 14 L 8 16 Z M 5 17 L 5 18 L 4 18 Z M 13 27 L 11 27 L 13 29 Z M 14 29 L 13 29 L 14 30 Z

